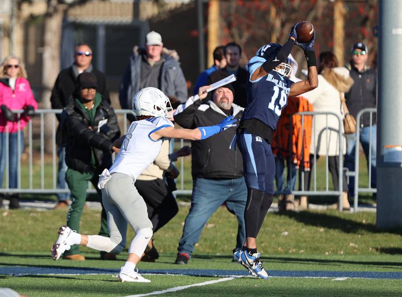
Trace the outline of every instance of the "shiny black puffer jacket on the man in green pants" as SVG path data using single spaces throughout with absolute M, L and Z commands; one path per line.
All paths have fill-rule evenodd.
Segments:
M 100 127 L 100 120 L 108 119 L 107 124 Z M 75 100 L 70 100 L 61 114 L 63 143 L 66 147 L 66 164 L 69 168 L 80 172 L 102 171 L 112 166 L 113 142 L 120 137 L 115 111 L 106 98 L 96 108 L 93 123 L 87 113 Z M 91 126 L 93 131 L 88 127 Z M 95 167 L 91 166 L 91 151 L 95 156 Z

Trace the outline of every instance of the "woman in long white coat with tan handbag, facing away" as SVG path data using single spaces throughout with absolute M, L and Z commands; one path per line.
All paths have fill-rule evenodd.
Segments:
M 332 52 L 322 52 L 318 67 L 318 87 L 304 94 L 313 105 L 315 112 L 332 112 L 343 119 L 345 117 L 341 96 L 347 92 L 353 84 L 349 76 L 349 70 L 338 67 L 338 59 Z M 339 131 L 339 121 L 334 115 L 315 115 L 313 119 L 312 145 L 310 148 L 310 167 L 313 168 L 314 154 L 328 155 L 328 169 L 332 175 L 332 181 L 336 191 L 339 190 L 339 178 L 343 178 L 342 208 L 349 210 L 348 184 L 345 173 L 339 176 L 339 155 L 346 154 L 346 140 L 343 136 L 343 124 Z M 341 133 L 339 133 L 341 132 Z M 342 137 L 342 152 L 339 151 L 339 135 Z M 312 171 L 305 178 L 305 188 L 310 189 Z M 334 205 L 335 207 L 335 205 Z

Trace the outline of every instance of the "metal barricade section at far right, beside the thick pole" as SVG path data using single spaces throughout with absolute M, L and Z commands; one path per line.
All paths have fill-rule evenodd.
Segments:
M 360 119 L 363 114 L 370 114 L 370 140 L 369 140 L 369 153 L 368 153 L 368 185 L 367 188 L 359 187 L 359 153 L 360 153 Z M 357 212 L 358 200 L 359 200 L 359 192 L 361 193 L 376 193 L 377 189 L 371 187 L 371 143 L 372 143 L 372 129 L 373 129 L 373 113 L 377 113 L 375 108 L 365 108 L 359 111 L 356 117 L 356 146 L 355 146 L 355 171 L 349 172 L 350 176 L 355 177 L 354 182 L 354 201 L 353 201 L 353 209 L 354 212 Z

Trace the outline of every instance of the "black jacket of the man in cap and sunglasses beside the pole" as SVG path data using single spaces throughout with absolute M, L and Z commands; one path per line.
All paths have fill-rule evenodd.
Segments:
M 366 67 L 359 72 L 352 64 L 347 67 L 350 71 L 350 77 L 354 84 L 349 92 L 345 93 L 346 105 L 351 115 L 357 116 L 357 113 L 364 108 L 377 108 L 377 73 L 375 70 Z M 360 122 L 363 126 L 370 125 L 370 114 L 365 113 Z M 373 114 L 374 125 L 376 123 L 376 114 Z

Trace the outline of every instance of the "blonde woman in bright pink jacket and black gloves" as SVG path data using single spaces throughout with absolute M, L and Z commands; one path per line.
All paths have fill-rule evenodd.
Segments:
M 24 149 L 23 129 L 30 116 L 38 108 L 31 86 L 27 80 L 27 72 L 20 57 L 8 56 L 0 66 L 0 187 L 3 187 L 3 176 L 6 167 L 6 145 L 9 152 L 9 188 L 18 187 L 18 158 Z M 22 114 L 13 112 L 24 110 Z M 18 144 L 20 134 L 20 144 Z M 18 148 L 20 150 L 18 151 Z M 7 196 L 10 209 L 19 208 L 17 194 Z M 0 196 L 0 207 L 3 196 Z

